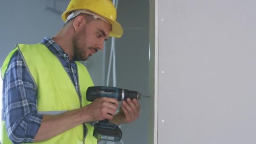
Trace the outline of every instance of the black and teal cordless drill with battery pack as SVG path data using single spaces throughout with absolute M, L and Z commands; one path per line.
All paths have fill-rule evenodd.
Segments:
M 108 87 L 108 86 L 92 86 L 86 91 L 87 101 L 94 101 L 100 97 L 116 98 L 118 101 L 130 99 L 141 99 L 142 96 L 138 91 L 129 91 L 126 89 Z M 122 131 L 108 120 L 99 121 L 94 125 L 93 136 L 98 140 L 106 141 L 120 141 L 122 138 Z

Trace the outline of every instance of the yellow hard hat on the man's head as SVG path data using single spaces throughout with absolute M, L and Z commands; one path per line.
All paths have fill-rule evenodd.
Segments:
M 121 37 L 123 28 L 116 21 L 117 11 L 111 0 L 71 0 L 67 10 L 62 14 L 62 20 L 66 21 L 69 13 L 75 10 L 88 10 L 102 16 L 112 26 L 109 32 L 110 37 Z

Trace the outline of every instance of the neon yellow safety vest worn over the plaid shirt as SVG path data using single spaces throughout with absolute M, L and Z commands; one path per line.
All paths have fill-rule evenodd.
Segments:
M 36 85 L 37 113 L 60 114 L 61 112 L 79 109 L 91 103 L 86 100 L 86 90 L 89 86 L 93 86 L 93 82 L 84 65 L 75 62 L 80 88 L 80 94 L 78 94 L 59 59 L 41 43 L 17 45 L 3 63 L 2 78 L 15 51 L 21 53 L 29 74 Z M 85 138 L 83 124 L 80 124 L 58 136 L 36 144 L 96 144 L 97 139 L 93 137 L 93 127 L 87 123 L 85 125 Z M 7 135 L 5 121 L 2 121 L 2 144 L 12 144 Z

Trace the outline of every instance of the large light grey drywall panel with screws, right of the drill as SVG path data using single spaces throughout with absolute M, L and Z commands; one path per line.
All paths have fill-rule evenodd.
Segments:
M 255 144 L 255 0 L 158 0 L 159 144 Z

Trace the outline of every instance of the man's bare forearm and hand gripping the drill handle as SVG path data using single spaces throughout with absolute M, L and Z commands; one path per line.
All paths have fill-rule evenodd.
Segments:
M 91 104 L 60 115 L 43 115 L 34 142 L 45 141 L 85 122 L 112 120 L 118 107 L 115 98 L 98 98 Z

